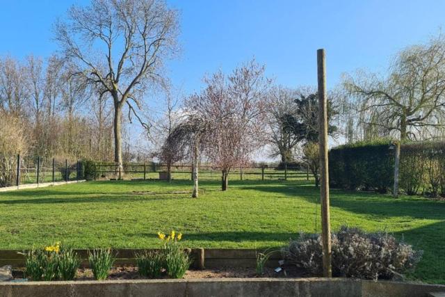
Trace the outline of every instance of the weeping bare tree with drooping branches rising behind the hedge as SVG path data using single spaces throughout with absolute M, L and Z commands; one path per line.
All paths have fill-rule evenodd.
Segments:
M 357 100 L 359 123 L 376 128 L 371 136 L 434 137 L 445 119 L 445 39 L 403 49 L 384 78 L 359 72 L 343 86 Z

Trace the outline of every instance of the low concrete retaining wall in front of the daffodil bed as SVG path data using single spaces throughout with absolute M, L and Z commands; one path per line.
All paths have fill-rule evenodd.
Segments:
M 445 286 L 371 282 L 345 278 L 120 280 L 74 282 L 5 282 L 0 297 L 51 296 L 311 296 L 311 297 L 423 297 Z

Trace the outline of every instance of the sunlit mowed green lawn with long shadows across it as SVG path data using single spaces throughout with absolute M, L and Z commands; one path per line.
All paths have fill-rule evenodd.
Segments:
M 318 189 L 311 182 L 231 181 L 220 191 L 204 181 L 86 182 L 0 193 L 0 248 L 63 241 L 76 248 L 152 248 L 156 233 L 176 230 L 204 248 L 284 246 L 302 232 L 320 232 Z M 331 191 L 331 223 L 387 230 L 424 250 L 411 279 L 445 283 L 445 202 L 376 193 Z

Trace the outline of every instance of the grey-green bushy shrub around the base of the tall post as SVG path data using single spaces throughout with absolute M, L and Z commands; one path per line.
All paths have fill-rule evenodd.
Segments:
M 414 269 L 422 252 L 398 243 L 385 232 L 368 234 L 357 228 L 341 227 L 332 234 L 332 275 L 336 277 L 391 279 Z M 285 250 L 287 262 L 321 275 L 323 271 L 320 236 L 300 236 Z

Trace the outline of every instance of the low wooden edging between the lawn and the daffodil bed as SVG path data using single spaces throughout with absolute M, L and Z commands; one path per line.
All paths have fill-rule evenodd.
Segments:
M 136 263 L 135 255 L 145 250 L 154 249 L 115 249 L 115 265 L 133 265 Z M 255 267 L 257 252 L 263 250 L 253 249 L 224 249 L 224 248 L 192 248 L 189 249 L 193 257 L 193 268 L 220 268 L 230 267 Z M 0 250 L 0 266 L 12 265 L 13 267 L 24 266 L 23 250 Z M 88 267 L 88 250 L 75 250 L 82 259 L 82 266 Z M 270 257 L 268 265 L 278 266 L 278 261 L 282 259 L 280 252 L 275 252 Z

